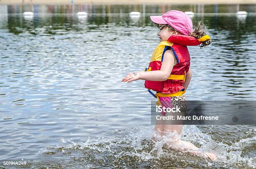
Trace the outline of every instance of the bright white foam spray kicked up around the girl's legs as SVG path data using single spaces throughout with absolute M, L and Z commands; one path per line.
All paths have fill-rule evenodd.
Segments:
M 113 138 L 89 137 L 85 142 L 74 142 L 72 139 L 63 139 L 61 142 L 65 143 L 64 149 L 92 149 L 99 152 L 107 152 L 113 154 L 113 156 L 120 157 L 123 155 L 136 156 L 142 160 L 149 160 L 154 158 L 161 158 L 164 154 L 168 154 L 168 148 L 166 150 L 166 142 L 173 136 L 173 134 L 167 134 L 159 141 L 151 140 L 154 138 L 154 130 L 151 128 L 133 127 L 133 129 L 127 129 L 126 134 L 120 134 L 120 137 L 115 136 Z M 122 131 L 123 132 L 123 131 Z M 250 131 L 253 134 L 253 130 Z M 246 145 L 255 143 L 256 136 L 252 138 L 241 139 L 240 141 L 229 146 L 223 143 L 217 143 L 212 140 L 207 134 L 203 134 L 197 126 L 184 125 L 182 130 L 181 139 L 189 141 L 197 146 L 200 146 L 198 151 L 211 151 L 218 157 L 218 162 L 225 165 L 238 165 L 241 167 L 246 163 L 247 167 L 255 167 L 256 160 L 254 157 L 242 157 L 241 149 Z M 60 148 L 61 146 L 59 146 Z M 119 147 L 119 148 L 117 148 Z M 128 147 L 129 150 L 122 151 L 122 148 Z M 58 147 L 57 147 L 58 148 Z M 61 147 L 63 148 L 63 147 Z M 169 147 L 172 148 L 172 147 Z M 182 147 L 180 147 L 182 148 Z M 132 151 L 131 151 L 132 150 Z M 167 152 L 166 152 L 167 151 Z M 182 149 L 184 152 L 189 152 L 187 149 Z M 175 156 L 175 154 L 168 154 L 168 156 Z M 212 166 L 212 161 L 207 161 L 208 166 Z

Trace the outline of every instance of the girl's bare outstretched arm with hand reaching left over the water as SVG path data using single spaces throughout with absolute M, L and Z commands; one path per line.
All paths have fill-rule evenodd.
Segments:
M 129 83 L 138 79 L 146 81 L 165 81 L 171 74 L 174 66 L 175 55 L 172 50 L 167 50 L 164 53 L 164 59 L 162 62 L 161 69 L 159 71 L 142 71 L 137 73 L 129 73 L 122 82 Z

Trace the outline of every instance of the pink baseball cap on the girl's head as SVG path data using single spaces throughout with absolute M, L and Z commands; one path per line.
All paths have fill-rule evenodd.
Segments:
M 154 23 L 168 24 L 183 35 L 189 35 L 193 30 L 193 23 L 187 14 L 179 10 L 170 10 L 161 16 L 150 16 Z

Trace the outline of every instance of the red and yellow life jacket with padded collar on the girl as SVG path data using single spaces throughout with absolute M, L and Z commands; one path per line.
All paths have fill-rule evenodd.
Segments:
M 177 64 L 173 66 L 171 75 L 166 81 L 145 81 L 145 88 L 152 89 L 159 93 L 176 93 L 180 90 L 184 91 L 182 83 L 185 81 L 186 72 L 188 72 L 190 66 L 190 56 L 187 45 L 199 44 L 199 40 L 187 35 L 172 35 L 168 41 L 159 43 L 154 50 L 149 66 L 145 71 L 160 70 L 166 50 L 173 51 L 177 59 Z

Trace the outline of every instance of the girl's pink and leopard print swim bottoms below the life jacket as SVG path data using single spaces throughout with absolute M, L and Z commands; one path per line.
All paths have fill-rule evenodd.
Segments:
M 185 94 L 182 94 L 182 96 L 173 96 L 173 97 L 159 97 L 159 101 L 161 103 L 161 106 L 164 107 L 180 107 L 180 111 L 184 114 L 184 116 L 187 116 L 188 114 L 188 104 L 187 104 L 187 98 Z M 162 112 L 162 114 L 165 116 L 165 113 Z

